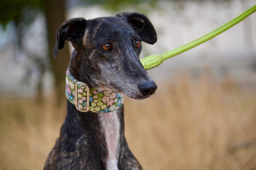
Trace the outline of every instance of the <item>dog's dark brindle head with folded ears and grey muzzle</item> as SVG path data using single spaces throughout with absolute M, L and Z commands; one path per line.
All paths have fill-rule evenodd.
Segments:
M 54 57 L 70 41 L 74 51 L 70 71 L 79 81 L 98 89 L 111 89 L 133 99 L 145 99 L 157 86 L 142 66 L 141 41 L 154 44 L 156 31 L 140 13 L 118 13 L 91 20 L 73 18 L 57 30 Z

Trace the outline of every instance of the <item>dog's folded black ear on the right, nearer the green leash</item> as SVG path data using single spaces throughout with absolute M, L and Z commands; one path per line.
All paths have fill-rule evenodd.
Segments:
M 133 12 L 133 13 L 118 13 L 117 17 L 125 17 L 127 21 L 131 24 L 136 34 L 140 35 L 142 41 L 148 44 L 154 44 L 157 41 L 157 34 L 154 26 L 150 20 L 143 14 Z

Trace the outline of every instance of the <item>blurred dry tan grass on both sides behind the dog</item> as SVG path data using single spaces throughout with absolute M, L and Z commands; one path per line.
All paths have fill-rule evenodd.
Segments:
M 231 80 L 158 82 L 151 99 L 125 101 L 127 142 L 144 169 L 256 169 L 256 92 Z M 0 169 L 42 169 L 66 101 L 0 100 Z M 232 150 L 231 150 L 232 151 Z

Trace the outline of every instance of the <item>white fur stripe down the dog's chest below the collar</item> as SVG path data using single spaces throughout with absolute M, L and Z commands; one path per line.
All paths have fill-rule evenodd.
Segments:
M 102 126 L 102 133 L 106 139 L 108 151 L 106 159 L 106 169 L 118 170 L 119 155 L 119 138 L 120 138 L 120 121 L 117 111 L 109 113 L 100 113 L 99 120 Z

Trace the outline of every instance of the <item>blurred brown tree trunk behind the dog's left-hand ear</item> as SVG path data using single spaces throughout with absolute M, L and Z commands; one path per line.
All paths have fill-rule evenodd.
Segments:
M 59 51 L 57 59 L 54 59 L 52 49 L 56 43 L 56 30 L 66 20 L 66 3 L 65 0 L 46 0 L 43 3 L 45 5 L 48 49 L 51 69 L 55 79 L 55 91 L 58 98 L 64 99 L 66 69 L 70 60 L 69 48 L 66 43 L 63 50 Z

